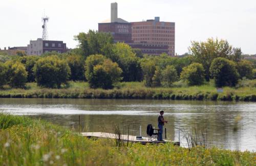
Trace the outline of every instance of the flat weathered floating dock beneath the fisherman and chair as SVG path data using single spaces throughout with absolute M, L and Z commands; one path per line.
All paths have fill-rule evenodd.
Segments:
M 141 144 L 159 144 L 159 143 L 173 143 L 174 145 L 180 146 L 179 142 L 171 141 L 171 140 L 164 140 L 164 141 L 158 141 L 158 140 L 148 140 L 148 137 L 142 137 L 142 139 L 137 139 L 134 135 L 119 135 L 113 134 L 113 133 L 105 133 L 105 132 L 81 132 L 82 136 L 86 136 L 88 138 L 91 137 L 98 137 L 98 138 L 111 138 L 111 139 L 121 139 L 123 141 L 130 141 L 132 143 L 141 143 Z

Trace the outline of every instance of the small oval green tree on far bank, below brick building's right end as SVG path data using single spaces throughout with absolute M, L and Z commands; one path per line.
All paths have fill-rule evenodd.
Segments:
M 167 65 L 162 72 L 162 82 L 166 82 L 170 87 L 173 82 L 178 80 L 177 70 L 173 65 Z

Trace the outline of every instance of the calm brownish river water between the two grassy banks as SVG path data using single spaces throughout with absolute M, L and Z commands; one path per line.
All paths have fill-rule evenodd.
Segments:
M 41 118 L 84 132 L 113 132 L 146 136 L 147 124 L 157 128 L 164 110 L 166 136 L 186 147 L 184 134 L 193 129 L 206 131 L 208 146 L 256 151 L 256 103 L 169 100 L 100 99 L 0 99 L 0 110 L 15 115 Z M 238 121 L 236 121 L 237 119 Z M 236 123 L 237 122 L 237 123 Z M 237 127 L 237 130 L 234 130 Z M 180 132 L 179 132 L 180 131 Z

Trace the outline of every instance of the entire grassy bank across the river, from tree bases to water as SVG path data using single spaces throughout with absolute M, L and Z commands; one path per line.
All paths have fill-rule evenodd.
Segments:
M 72 98 L 72 99 L 169 99 L 169 100 L 221 100 L 256 101 L 256 80 L 241 83 L 240 87 L 224 87 L 218 93 L 216 87 L 181 86 L 172 88 L 150 88 L 141 82 L 124 82 L 114 89 L 92 89 L 86 82 L 69 82 L 60 89 L 41 88 L 36 83 L 27 83 L 26 89 L 0 90 L 0 98 Z

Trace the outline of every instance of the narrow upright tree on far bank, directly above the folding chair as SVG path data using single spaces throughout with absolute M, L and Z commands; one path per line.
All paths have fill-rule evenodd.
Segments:
M 156 71 L 156 64 L 151 60 L 144 60 L 141 62 L 141 68 L 144 76 L 144 84 L 145 86 L 152 86 L 153 77 Z

